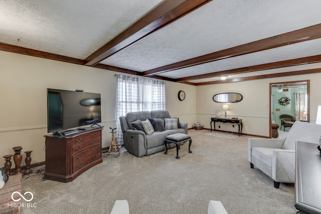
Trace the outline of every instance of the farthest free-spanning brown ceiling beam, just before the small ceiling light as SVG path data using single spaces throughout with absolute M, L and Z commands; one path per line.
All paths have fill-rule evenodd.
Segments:
M 209 73 L 209 74 L 201 74 L 201 75 L 195 75 L 195 76 L 190 76 L 190 77 L 183 77 L 183 78 L 177 79 L 176 81 L 177 82 L 185 82 L 185 81 L 199 80 L 199 79 L 205 79 L 205 78 L 211 78 L 211 77 L 220 77 L 220 76 L 227 76 L 227 75 L 233 75 L 233 74 L 240 74 L 240 73 L 247 73 L 247 72 L 254 72 L 254 71 L 263 71 L 263 70 L 268 70 L 268 69 L 284 68 L 284 67 L 289 67 L 289 66 L 306 65 L 306 64 L 320 63 L 320 62 L 321 62 L 321 55 L 316 55 L 316 56 L 312 56 L 312 57 L 303 57 L 303 58 L 298 58 L 298 59 L 293 59 L 293 60 L 285 60 L 285 61 L 280 61 L 280 62 L 267 63 L 267 64 L 261 64 L 261 65 L 255 65 L 255 66 L 213 72 L 213 73 Z

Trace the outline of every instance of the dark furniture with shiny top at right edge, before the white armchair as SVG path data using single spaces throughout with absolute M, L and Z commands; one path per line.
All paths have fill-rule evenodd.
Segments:
M 321 156 L 317 145 L 296 142 L 294 206 L 300 214 L 321 213 Z

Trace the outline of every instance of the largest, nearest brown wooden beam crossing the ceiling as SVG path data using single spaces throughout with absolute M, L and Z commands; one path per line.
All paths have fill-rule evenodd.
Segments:
M 116 52 L 138 42 L 177 19 L 193 12 L 212 0 L 166 0 L 135 24 L 85 59 L 85 65 L 94 66 Z

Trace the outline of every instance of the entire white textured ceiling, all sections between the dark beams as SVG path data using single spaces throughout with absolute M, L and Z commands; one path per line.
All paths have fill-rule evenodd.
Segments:
M 2 0 L 0 43 L 86 60 L 149 12 L 152 13 L 157 6 L 166 2 L 171 1 Z M 117 71 L 130 70 L 144 75 L 148 70 L 319 25 L 320 8 L 321 1 L 317 0 L 209 1 L 175 22 L 162 26 L 115 51 L 99 64 L 112 66 L 117 68 Z M 194 84 L 222 82 L 218 78 L 222 76 L 219 72 L 320 54 L 321 39 L 315 38 L 240 56 L 226 56 L 212 62 L 183 66 L 184 68 L 156 75 L 175 81 L 208 74 L 203 78 L 197 76 L 187 81 Z M 320 63 L 314 62 L 285 68 L 236 72 L 228 75 L 228 79 L 319 68 Z M 216 72 L 219 75 L 216 76 Z

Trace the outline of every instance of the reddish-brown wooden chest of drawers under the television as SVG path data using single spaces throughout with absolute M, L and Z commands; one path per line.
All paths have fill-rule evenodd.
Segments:
M 102 162 L 102 128 L 87 128 L 63 137 L 46 137 L 46 171 L 44 178 L 69 182 L 90 167 Z

